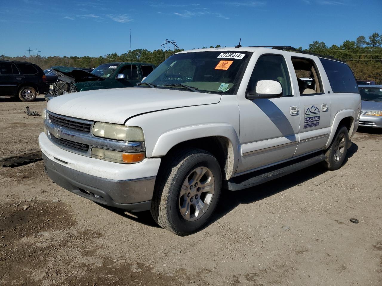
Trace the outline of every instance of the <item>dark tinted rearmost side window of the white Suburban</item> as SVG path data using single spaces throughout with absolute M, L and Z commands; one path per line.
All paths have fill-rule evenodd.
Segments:
M 347 64 L 320 58 L 335 93 L 359 93 L 356 79 Z

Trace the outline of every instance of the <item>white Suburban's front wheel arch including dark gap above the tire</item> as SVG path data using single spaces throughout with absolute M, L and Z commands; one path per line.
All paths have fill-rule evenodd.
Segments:
M 199 148 L 214 155 L 222 169 L 223 178 L 227 180 L 236 171 L 238 136 L 230 125 L 191 126 L 164 133 L 157 140 L 151 156 L 171 156 L 181 148 Z

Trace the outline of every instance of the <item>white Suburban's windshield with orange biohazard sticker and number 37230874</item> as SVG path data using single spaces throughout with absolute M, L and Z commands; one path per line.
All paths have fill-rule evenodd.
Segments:
M 233 94 L 250 54 L 243 51 L 176 54 L 154 69 L 144 82 L 163 88 L 186 88 L 183 84 L 202 92 Z

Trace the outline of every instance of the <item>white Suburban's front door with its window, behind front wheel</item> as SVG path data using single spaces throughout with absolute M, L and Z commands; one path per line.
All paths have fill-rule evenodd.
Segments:
M 238 98 L 241 160 L 236 173 L 290 159 L 296 151 L 300 126 L 299 98 L 293 95 L 290 74 L 282 55 L 262 55 L 257 60 L 249 89 L 259 80 L 277 80 L 279 98 Z

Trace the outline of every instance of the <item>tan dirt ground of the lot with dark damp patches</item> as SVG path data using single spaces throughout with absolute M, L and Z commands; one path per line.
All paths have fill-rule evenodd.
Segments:
M 0 99 L 0 157 L 38 148 L 27 105 L 46 103 Z M 0 167 L 0 285 L 382 285 L 382 133 L 359 131 L 340 170 L 224 191 L 186 237 L 60 188 L 42 161 Z

